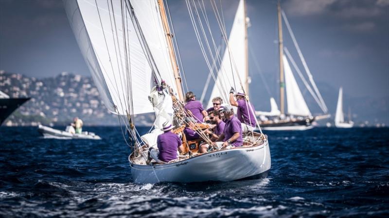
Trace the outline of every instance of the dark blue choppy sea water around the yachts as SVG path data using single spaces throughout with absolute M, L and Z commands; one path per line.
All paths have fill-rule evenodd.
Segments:
M 119 127 L 103 140 L 0 127 L 0 217 L 389 217 L 389 129 L 268 132 L 266 179 L 137 185 Z M 146 131 L 146 129 L 141 129 Z

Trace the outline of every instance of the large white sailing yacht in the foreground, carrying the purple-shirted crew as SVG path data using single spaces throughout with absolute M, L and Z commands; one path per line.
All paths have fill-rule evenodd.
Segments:
M 244 6 L 241 4 L 239 7 Z M 200 140 L 185 139 L 183 92 L 162 0 L 67 0 L 65 8 L 107 109 L 118 115 L 134 141 L 128 160 L 135 183 L 266 176 L 271 160 L 268 140 L 262 133 L 246 134 L 242 147 L 205 154 L 197 153 L 200 143 L 209 142 L 204 134 Z M 147 112 L 156 114 L 154 130 L 140 136 L 134 115 Z M 174 131 L 182 136 L 186 152 L 169 163 L 148 164 L 148 148 L 156 146 L 166 120 L 177 126 Z M 196 127 L 200 133 L 208 126 Z

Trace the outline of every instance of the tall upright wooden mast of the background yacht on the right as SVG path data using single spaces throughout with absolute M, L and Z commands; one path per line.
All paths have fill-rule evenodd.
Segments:
M 281 5 L 280 1 L 278 1 L 277 4 L 277 11 L 278 11 L 278 45 L 280 49 L 280 110 L 281 114 L 285 114 L 284 110 L 284 87 L 285 82 L 283 80 L 283 28 L 282 28 L 282 20 L 281 20 Z

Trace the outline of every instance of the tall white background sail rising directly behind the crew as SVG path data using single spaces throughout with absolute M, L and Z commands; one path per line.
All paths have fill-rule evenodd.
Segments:
M 238 9 L 236 10 L 232 29 L 230 31 L 229 45 L 223 55 L 221 67 L 218 71 L 215 84 L 212 89 L 211 99 L 220 96 L 224 102 L 229 102 L 226 99 L 231 87 L 240 89 L 239 78 L 243 83 L 246 82 L 246 51 L 245 51 L 245 6 L 244 1 L 240 0 Z M 229 49 L 230 47 L 230 49 Z M 231 59 L 232 62 L 231 62 Z M 234 64 L 236 68 L 234 67 Z M 238 72 L 236 72 L 236 70 Z M 234 81 L 235 80 L 235 81 Z M 246 90 L 247 91 L 247 90 Z M 208 102 L 207 108 L 212 107 L 212 101 Z

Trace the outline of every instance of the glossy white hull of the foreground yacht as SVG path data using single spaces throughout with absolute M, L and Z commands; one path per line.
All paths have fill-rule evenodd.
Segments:
M 233 181 L 265 176 L 271 167 L 268 142 L 256 147 L 241 147 L 210 152 L 186 160 L 161 165 L 131 163 L 135 183 Z

